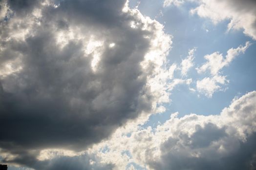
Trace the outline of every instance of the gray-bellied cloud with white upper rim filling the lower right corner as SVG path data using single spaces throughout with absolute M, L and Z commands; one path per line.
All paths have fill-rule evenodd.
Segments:
M 171 119 L 159 127 L 170 127 L 171 134 L 160 145 L 160 158 L 149 159 L 149 166 L 155 170 L 255 170 L 255 99 L 253 91 L 234 100 L 219 116 Z

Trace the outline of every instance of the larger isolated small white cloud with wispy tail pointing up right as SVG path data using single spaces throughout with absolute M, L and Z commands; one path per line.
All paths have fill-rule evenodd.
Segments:
M 226 85 L 229 83 L 229 81 L 226 79 L 226 76 L 220 75 L 220 70 L 223 67 L 228 66 L 236 56 L 244 53 L 250 45 L 251 43 L 247 41 L 244 46 L 240 45 L 236 49 L 229 49 L 225 58 L 219 52 L 213 52 L 210 55 L 205 55 L 204 58 L 207 60 L 207 62 L 201 67 L 196 68 L 196 70 L 198 73 L 204 73 L 207 70 L 210 70 L 211 76 L 198 80 L 196 82 L 197 90 L 209 98 L 213 96 L 215 91 L 223 90 L 220 85 Z

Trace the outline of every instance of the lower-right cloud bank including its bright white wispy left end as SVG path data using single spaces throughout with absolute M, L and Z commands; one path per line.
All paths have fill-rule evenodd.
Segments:
M 152 170 L 256 168 L 256 91 L 234 99 L 219 115 L 177 115 L 154 129 L 123 127 L 94 150 L 107 146 L 106 153 L 97 154 L 103 162 L 115 162 L 116 169 L 130 163 Z

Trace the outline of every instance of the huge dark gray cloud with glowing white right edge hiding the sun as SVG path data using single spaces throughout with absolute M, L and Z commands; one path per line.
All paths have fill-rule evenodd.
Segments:
M 8 8 L 0 20 L 6 162 L 35 168 L 42 150 L 85 150 L 169 101 L 169 76 L 161 73 L 168 75 L 171 36 L 126 0 L 2 4 Z

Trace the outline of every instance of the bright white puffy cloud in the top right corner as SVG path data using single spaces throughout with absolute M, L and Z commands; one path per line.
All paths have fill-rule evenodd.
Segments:
M 243 33 L 256 39 L 256 1 L 255 0 L 165 0 L 164 7 L 180 6 L 185 1 L 197 4 L 192 14 L 210 18 L 214 24 L 230 20 L 228 31 L 242 29 Z

